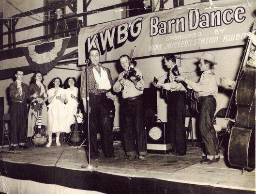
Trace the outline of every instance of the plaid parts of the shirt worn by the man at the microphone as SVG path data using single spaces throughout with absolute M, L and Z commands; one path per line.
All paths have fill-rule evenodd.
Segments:
M 99 65 L 106 70 L 107 77 L 108 77 L 108 80 L 110 82 L 111 89 L 112 89 L 112 87 L 113 87 L 113 80 L 112 80 L 112 77 L 111 77 L 111 74 L 110 74 L 110 70 L 108 68 L 106 68 L 106 67 L 103 67 L 101 64 L 99 64 Z M 90 64 L 90 66 L 88 67 L 89 93 L 106 93 L 107 90 L 99 90 L 99 89 L 94 88 L 95 78 L 94 78 L 94 74 L 93 74 L 92 68 L 93 68 L 93 65 Z M 99 70 L 97 68 L 95 68 L 95 69 L 101 75 L 101 69 L 100 68 L 99 68 Z M 84 69 L 82 71 L 80 93 L 81 93 L 81 97 L 86 97 L 86 69 Z

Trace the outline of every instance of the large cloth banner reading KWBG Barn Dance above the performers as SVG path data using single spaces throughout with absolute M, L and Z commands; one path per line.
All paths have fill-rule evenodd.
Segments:
M 78 64 L 98 48 L 101 61 L 120 55 L 144 57 L 245 44 L 254 22 L 256 0 L 218 0 L 120 19 L 80 30 Z

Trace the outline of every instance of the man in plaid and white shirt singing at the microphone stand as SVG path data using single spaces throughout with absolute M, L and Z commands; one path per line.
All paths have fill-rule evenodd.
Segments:
M 89 52 L 90 65 L 82 71 L 81 76 L 81 97 L 83 99 L 84 109 L 87 112 L 87 85 L 86 76 L 88 75 L 89 92 L 89 113 L 90 113 L 90 158 L 98 161 L 99 150 L 97 146 L 97 132 L 103 129 L 104 152 L 105 157 L 117 159 L 114 155 L 113 129 L 111 107 L 108 106 L 106 95 L 110 93 L 113 87 L 113 81 L 108 68 L 103 67 L 100 62 L 100 52 L 92 48 Z M 86 61 L 87 62 L 87 61 Z M 87 72 L 86 72 L 87 71 Z

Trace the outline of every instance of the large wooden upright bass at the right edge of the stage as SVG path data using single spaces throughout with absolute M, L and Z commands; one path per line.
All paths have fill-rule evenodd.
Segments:
M 252 30 L 252 33 L 255 32 L 256 21 Z M 231 165 L 248 170 L 255 169 L 256 66 L 249 59 L 249 53 L 254 48 L 252 41 L 248 41 L 226 113 L 228 118 L 235 98 L 237 114 L 228 143 L 228 161 Z

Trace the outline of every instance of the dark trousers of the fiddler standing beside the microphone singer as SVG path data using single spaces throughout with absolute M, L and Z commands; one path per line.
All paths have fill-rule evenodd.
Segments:
M 121 109 L 124 119 L 123 138 L 127 155 L 135 154 L 136 151 L 141 155 L 145 155 L 147 147 L 141 98 L 131 101 L 124 99 Z M 137 150 L 135 148 L 135 138 Z

